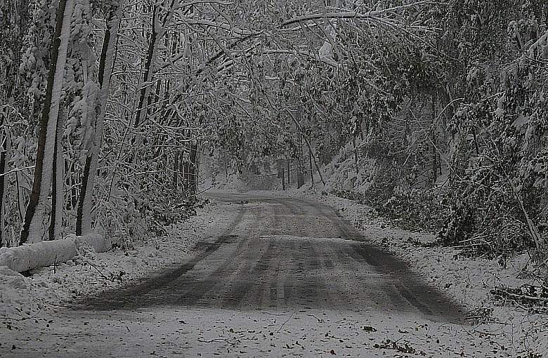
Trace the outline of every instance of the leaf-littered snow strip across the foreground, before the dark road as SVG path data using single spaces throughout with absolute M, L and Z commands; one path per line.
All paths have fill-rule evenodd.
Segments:
M 97 357 L 517 357 L 520 354 L 515 347 L 518 342 L 513 345 L 502 340 L 499 331 L 487 327 L 440 324 L 368 310 L 151 308 L 74 312 L 64 320 L 44 317 L 30 329 L 25 326 L 10 333 L 0 352 L 4 349 L 20 357 L 71 357 L 81 352 Z M 90 340 L 96 344 L 89 345 Z

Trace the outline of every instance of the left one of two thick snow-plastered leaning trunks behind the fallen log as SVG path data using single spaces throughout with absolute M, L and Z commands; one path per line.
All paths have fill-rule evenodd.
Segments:
M 34 183 L 30 201 L 25 213 L 21 230 L 21 244 L 38 242 L 46 237 L 48 231 L 45 216 L 46 204 L 51 190 L 51 172 L 53 171 L 53 153 L 56 146 L 56 128 L 59 116 L 61 91 L 65 63 L 67 61 L 68 40 L 70 37 L 70 20 L 74 0 L 59 0 L 56 16 L 56 31 L 51 44 L 51 64 L 48 74 L 48 85 L 44 99 L 44 110 L 40 119 L 40 135 Z

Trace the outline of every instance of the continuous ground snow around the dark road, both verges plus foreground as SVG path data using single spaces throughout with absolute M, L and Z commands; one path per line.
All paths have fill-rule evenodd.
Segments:
M 66 264 L 34 270 L 32 277 L 0 268 L 0 355 L 542 357 L 548 352 L 545 316 L 500 307 L 488 298 L 495 284 L 524 282 L 516 274 L 527 261 L 525 255 L 512 258 L 503 270 L 495 261 L 455 257 L 457 251 L 450 248 L 415 246 L 408 239 L 427 242 L 433 237 L 393 228 L 367 206 L 307 190 L 289 194 L 334 206 L 366 239 L 404 258 L 431 285 L 465 303 L 471 314 L 488 314 L 471 323 L 449 324 L 374 307 L 357 311 L 150 307 L 105 312 L 63 307 L 77 297 L 131 286 L 145 275 L 192 258 L 200 238 L 221 234 L 235 218 L 237 211 L 230 204 L 213 203 L 188 222 L 170 227 L 165 237 L 134 251 L 89 251 Z

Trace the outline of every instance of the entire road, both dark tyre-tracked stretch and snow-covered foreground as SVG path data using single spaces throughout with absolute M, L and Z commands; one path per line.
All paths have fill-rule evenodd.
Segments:
M 0 356 L 487 357 L 461 307 L 329 206 L 212 197 L 188 259 L 0 329 Z

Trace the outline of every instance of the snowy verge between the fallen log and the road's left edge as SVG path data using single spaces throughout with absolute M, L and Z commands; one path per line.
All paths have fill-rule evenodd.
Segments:
M 151 237 L 127 251 L 114 248 L 98 253 L 91 247 L 93 243 L 87 246 L 77 240 L 77 256 L 65 263 L 57 258 L 55 264 L 30 270 L 30 277 L 0 265 L 0 319 L 30 319 L 43 310 L 66 305 L 82 296 L 131 286 L 143 277 L 192 258 L 192 248 L 206 235 L 207 224 L 215 220 L 216 229 L 222 232 L 232 223 L 231 215 L 223 210 L 223 204 L 210 204 L 209 208 L 198 209 L 197 216 L 184 223 L 167 227 L 165 236 Z M 210 234 L 211 227 L 208 230 Z M 67 246 L 70 250 L 74 248 Z M 13 256 L 6 255 L 2 260 L 9 258 Z

